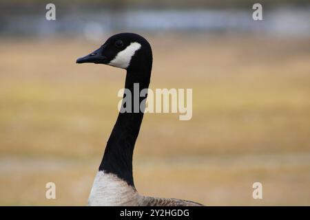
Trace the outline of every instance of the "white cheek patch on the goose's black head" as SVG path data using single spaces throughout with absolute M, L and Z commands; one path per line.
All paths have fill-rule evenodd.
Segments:
M 140 48 L 141 48 L 140 43 L 136 42 L 130 43 L 130 45 L 126 47 L 125 50 L 118 52 L 115 58 L 112 61 L 110 61 L 109 65 L 112 65 L 113 67 L 126 69 L 130 65 L 132 56 L 134 56 L 134 53 Z

